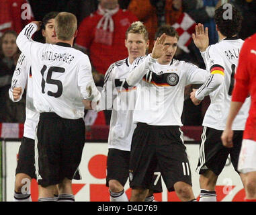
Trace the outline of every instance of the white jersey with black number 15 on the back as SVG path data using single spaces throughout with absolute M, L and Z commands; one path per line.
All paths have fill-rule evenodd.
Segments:
M 36 30 L 36 24 L 28 24 L 17 37 L 17 46 L 32 62 L 36 110 L 83 118 L 82 99 L 89 99 L 86 87 L 94 85 L 88 56 L 66 43 L 34 42 L 31 36 Z

